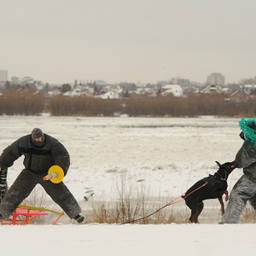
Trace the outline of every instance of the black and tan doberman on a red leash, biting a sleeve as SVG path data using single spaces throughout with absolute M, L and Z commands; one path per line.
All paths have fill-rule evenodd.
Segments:
M 228 183 L 227 179 L 230 173 L 236 168 L 233 162 L 227 162 L 221 165 L 216 161 L 218 165 L 218 171 L 214 175 L 204 177 L 197 183 L 195 183 L 187 192 L 182 196 L 186 205 L 191 210 L 191 216 L 189 221 L 191 223 L 199 223 L 198 217 L 204 207 L 204 200 L 218 198 L 221 206 L 221 213 L 224 214 L 224 202 L 222 195 L 225 195 L 225 200 L 229 200 L 229 192 L 227 191 Z

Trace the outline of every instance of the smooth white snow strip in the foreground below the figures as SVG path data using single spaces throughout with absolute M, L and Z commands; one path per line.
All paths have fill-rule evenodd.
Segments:
M 254 256 L 253 224 L 1 226 L 4 256 Z

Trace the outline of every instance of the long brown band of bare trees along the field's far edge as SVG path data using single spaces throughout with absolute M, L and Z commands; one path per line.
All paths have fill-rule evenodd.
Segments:
M 223 117 L 256 116 L 256 101 L 229 101 L 223 95 L 190 94 L 187 97 L 130 96 L 125 100 L 101 99 L 91 96 L 51 96 L 27 91 L 9 92 L 0 96 L 0 114 L 53 116 L 117 116 L 132 117 Z

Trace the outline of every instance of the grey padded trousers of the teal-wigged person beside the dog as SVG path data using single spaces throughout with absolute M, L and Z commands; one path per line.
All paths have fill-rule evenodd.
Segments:
M 223 224 L 238 224 L 247 201 L 256 211 L 256 181 L 243 175 L 231 190 L 230 201 L 221 222 Z

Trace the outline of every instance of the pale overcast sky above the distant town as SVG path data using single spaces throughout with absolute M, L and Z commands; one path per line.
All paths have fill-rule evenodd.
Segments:
M 255 0 L 0 0 L 0 69 L 49 83 L 256 76 Z

